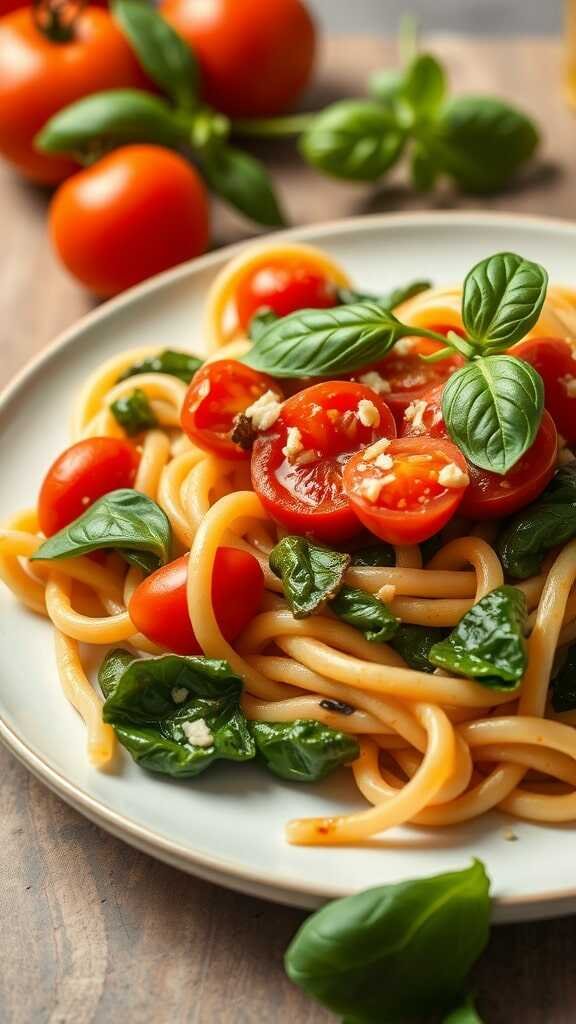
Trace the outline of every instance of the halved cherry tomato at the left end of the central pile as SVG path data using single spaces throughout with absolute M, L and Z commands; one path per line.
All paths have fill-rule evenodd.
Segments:
M 194 376 L 181 413 L 182 430 L 198 447 L 224 459 L 248 459 L 250 453 L 231 440 L 236 417 L 266 391 L 283 395 L 272 377 L 238 362 L 207 362 Z

